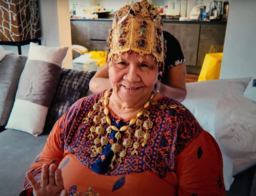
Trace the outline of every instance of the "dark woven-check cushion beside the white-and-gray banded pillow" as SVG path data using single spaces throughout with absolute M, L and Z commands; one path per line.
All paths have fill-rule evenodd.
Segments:
M 95 73 L 62 68 L 57 90 L 46 117 L 45 132 L 51 131 L 54 123 L 75 101 L 86 96 L 89 82 Z

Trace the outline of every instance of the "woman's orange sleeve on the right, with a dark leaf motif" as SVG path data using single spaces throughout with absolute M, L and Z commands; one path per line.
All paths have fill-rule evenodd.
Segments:
M 224 196 L 223 162 L 215 139 L 189 111 L 177 125 L 176 171 L 179 196 Z

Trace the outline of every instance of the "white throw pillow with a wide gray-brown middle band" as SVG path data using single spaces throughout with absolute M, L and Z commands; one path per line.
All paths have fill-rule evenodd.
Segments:
M 61 65 L 68 47 L 46 47 L 30 43 L 28 60 L 21 74 L 14 106 L 6 128 L 43 132 L 45 118 L 55 93 Z

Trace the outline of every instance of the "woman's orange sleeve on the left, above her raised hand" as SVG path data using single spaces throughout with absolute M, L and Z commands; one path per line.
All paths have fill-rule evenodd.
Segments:
M 63 159 L 65 140 L 68 137 L 69 130 L 72 123 L 74 123 L 74 119 L 77 116 L 80 107 L 81 100 L 78 100 L 62 117 L 59 118 L 52 128 L 42 152 L 40 152 L 32 162 L 29 171 L 39 184 L 41 180 L 42 165 L 46 163 L 48 166 L 51 164 L 58 166 Z M 25 177 L 20 196 L 32 196 L 32 192 L 32 186 L 27 177 Z

